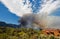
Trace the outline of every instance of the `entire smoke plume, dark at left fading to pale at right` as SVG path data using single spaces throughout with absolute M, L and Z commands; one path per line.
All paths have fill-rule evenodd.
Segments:
M 45 14 L 44 14 L 45 15 Z M 44 16 L 39 14 L 25 14 L 20 18 L 21 26 L 34 29 L 60 29 L 60 16 Z

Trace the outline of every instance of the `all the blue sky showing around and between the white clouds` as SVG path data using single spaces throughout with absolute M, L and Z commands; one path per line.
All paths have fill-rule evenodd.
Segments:
M 32 10 L 34 13 L 37 13 L 39 11 L 40 7 L 40 0 L 36 0 L 36 2 L 30 0 L 32 3 Z M 52 16 L 60 16 L 60 8 L 57 10 L 53 11 Z M 0 21 L 4 21 L 7 23 L 12 23 L 12 24 L 18 24 L 18 19 L 19 17 L 12 12 L 8 11 L 8 9 L 0 2 Z

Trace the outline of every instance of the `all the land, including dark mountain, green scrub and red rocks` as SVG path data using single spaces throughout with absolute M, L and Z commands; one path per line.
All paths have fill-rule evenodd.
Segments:
M 0 39 L 60 39 L 60 29 L 38 30 L 0 22 Z

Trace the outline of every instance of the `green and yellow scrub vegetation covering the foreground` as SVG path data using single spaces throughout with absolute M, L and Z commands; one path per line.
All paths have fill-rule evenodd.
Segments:
M 46 35 L 42 30 L 31 28 L 0 27 L 0 39 L 60 39 L 60 36 Z

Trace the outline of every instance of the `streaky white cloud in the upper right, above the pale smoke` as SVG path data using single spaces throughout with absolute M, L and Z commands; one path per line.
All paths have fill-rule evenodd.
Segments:
M 43 0 L 41 4 L 40 12 L 41 14 L 50 14 L 60 7 L 60 0 Z

